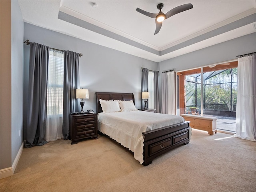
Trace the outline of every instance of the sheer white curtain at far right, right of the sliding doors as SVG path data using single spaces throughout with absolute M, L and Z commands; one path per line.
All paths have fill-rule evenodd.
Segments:
M 236 134 L 256 141 L 256 54 L 238 58 Z

